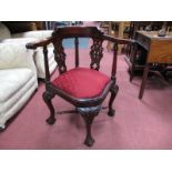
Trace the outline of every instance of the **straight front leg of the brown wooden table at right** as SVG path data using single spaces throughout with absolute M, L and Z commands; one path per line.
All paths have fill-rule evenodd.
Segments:
M 144 93 L 144 88 L 145 88 L 145 82 L 146 82 L 149 69 L 150 69 L 150 64 L 146 63 L 145 67 L 144 67 L 142 83 L 141 83 L 141 87 L 140 87 L 139 99 L 142 99 L 143 98 L 143 93 Z

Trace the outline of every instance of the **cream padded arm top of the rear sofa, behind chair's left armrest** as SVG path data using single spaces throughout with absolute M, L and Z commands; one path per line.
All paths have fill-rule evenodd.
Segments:
M 37 31 L 28 31 L 22 33 L 12 34 L 12 38 L 37 38 L 37 39 L 45 39 L 51 37 L 52 30 L 37 30 Z

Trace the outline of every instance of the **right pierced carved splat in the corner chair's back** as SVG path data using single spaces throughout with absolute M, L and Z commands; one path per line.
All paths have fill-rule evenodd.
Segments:
M 93 44 L 91 45 L 90 57 L 91 57 L 91 64 L 90 68 L 98 70 L 100 69 L 100 60 L 103 57 L 103 48 L 102 48 L 102 40 L 93 39 Z

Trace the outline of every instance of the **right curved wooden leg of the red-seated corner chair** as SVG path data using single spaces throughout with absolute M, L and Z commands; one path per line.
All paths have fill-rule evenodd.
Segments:
M 119 91 L 119 87 L 118 87 L 118 85 L 115 85 L 115 87 L 111 90 L 111 98 L 110 98 L 110 100 L 109 100 L 109 112 L 108 112 L 108 115 L 109 115 L 109 117 L 114 117 L 114 114 L 115 114 L 115 111 L 114 111 L 114 109 L 112 108 L 112 104 L 113 104 L 113 101 L 114 101 L 114 99 L 115 99 L 115 97 L 117 97 L 118 91 Z

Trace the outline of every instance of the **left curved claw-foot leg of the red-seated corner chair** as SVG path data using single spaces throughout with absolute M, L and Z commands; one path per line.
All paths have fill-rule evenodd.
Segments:
M 51 99 L 54 95 L 52 95 L 51 93 L 49 93 L 48 91 L 43 92 L 42 98 L 47 104 L 47 107 L 50 110 L 50 117 L 45 120 L 48 124 L 53 124 L 55 122 L 55 118 L 54 118 L 54 108 L 52 105 Z

